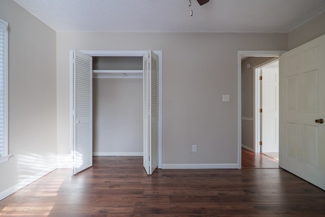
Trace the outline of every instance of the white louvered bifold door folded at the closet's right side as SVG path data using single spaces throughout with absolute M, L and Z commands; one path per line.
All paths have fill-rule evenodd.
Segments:
M 158 166 L 158 57 L 143 57 L 143 166 L 147 174 Z

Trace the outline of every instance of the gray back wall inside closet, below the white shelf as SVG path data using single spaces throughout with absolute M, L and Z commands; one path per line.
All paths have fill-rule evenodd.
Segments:
M 93 79 L 94 155 L 142 155 L 142 86 L 136 78 Z

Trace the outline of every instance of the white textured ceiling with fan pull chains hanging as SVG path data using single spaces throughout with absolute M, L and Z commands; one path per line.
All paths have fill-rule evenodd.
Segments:
M 14 0 L 58 32 L 287 33 L 325 0 Z

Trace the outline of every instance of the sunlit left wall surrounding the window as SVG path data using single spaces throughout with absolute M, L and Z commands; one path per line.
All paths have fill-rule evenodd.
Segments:
M 0 164 L 0 199 L 56 168 L 56 33 L 11 0 L 9 22 L 9 153 Z

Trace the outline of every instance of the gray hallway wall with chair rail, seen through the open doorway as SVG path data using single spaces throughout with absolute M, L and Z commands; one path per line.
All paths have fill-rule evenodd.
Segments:
M 254 67 L 272 58 L 249 57 L 242 61 L 242 144 L 250 150 L 254 148 Z

